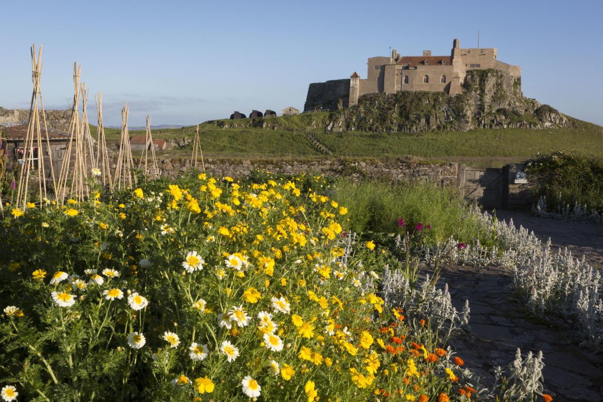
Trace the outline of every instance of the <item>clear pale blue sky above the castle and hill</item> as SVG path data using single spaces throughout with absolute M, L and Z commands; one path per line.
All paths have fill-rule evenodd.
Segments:
M 303 108 L 308 84 L 366 77 L 367 57 L 497 48 L 523 94 L 603 125 L 603 2 L 30 1 L 2 4 L 0 106 L 30 104 L 30 46 L 43 45 L 42 96 L 67 108 L 72 63 L 105 125 L 192 125 L 234 110 Z

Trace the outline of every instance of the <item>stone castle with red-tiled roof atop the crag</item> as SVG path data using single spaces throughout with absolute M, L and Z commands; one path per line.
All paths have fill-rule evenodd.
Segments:
M 429 50 L 422 56 L 402 56 L 394 49 L 391 57 L 368 58 L 364 80 L 354 72 L 349 80 L 310 84 L 304 110 L 352 107 L 359 96 L 375 92 L 430 91 L 453 96 L 463 92 L 461 84 L 469 70 L 496 69 L 514 80 L 521 77 L 519 66 L 497 60 L 496 54 L 496 48 L 461 49 L 458 39 L 447 56 L 432 56 Z

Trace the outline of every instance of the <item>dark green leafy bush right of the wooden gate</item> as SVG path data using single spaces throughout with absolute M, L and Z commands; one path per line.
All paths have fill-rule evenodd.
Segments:
M 526 163 L 526 171 L 536 180 L 532 189 L 536 199 L 546 196 L 553 210 L 578 203 L 603 213 L 602 157 L 557 151 L 538 155 Z

